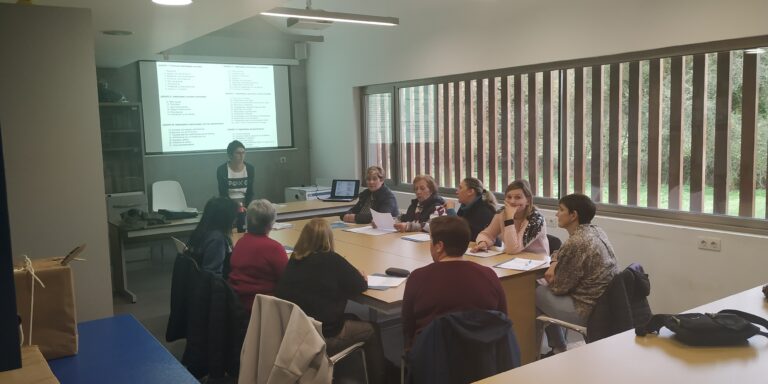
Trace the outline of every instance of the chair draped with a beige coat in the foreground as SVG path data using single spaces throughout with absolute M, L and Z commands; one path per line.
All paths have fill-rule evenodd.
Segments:
M 333 356 L 328 356 L 322 323 L 307 316 L 298 305 L 290 301 L 269 295 L 256 295 L 240 354 L 238 383 L 266 382 L 269 377 L 275 382 L 330 384 L 333 366 L 359 351 L 364 375 L 362 382 L 368 384 L 364 345 L 365 343 L 358 342 Z M 307 350 L 312 353 L 311 358 L 307 355 Z M 278 358 L 282 364 L 289 365 L 278 366 L 275 364 Z M 289 372 L 288 369 L 281 368 L 291 369 Z

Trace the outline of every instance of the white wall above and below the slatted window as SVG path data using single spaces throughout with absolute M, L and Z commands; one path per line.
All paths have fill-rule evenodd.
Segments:
M 324 43 L 312 45 L 314 178 L 361 174 L 356 86 L 768 34 L 764 0 L 325 0 L 323 8 L 397 16 L 401 25 L 334 24 Z M 715 253 L 696 247 L 697 236 L 709 231 L 609 218 L 597 223 L 622 264 L 638 261 L 650 272 L 657 312 L 768 280 L 764 237 L 716 233 L 723 251 Z

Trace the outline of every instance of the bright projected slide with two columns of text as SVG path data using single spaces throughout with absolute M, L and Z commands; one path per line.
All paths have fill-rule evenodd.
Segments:
M 163 152 L 278 145 L 273 66 L 156 64 Z

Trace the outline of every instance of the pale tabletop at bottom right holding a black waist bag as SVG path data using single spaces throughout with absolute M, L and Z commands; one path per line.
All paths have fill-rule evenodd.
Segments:
M 768 318 L 762 287 L 728 296 L 687 312 L 738 309 Z M 766 383 L 768 338 L 753 336 L 736 347 L 690 347 L 662 328 L 660 334 L 635 336 L 629 330 L 478 383 Z

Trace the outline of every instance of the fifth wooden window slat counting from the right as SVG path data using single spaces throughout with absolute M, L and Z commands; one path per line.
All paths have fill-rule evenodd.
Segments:
M 648 63 L 648 206 L 659 206 L 661 186 L 661 103 L 664 72 L 661 59 Z

